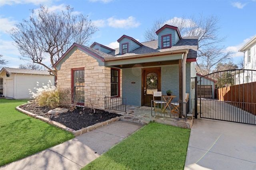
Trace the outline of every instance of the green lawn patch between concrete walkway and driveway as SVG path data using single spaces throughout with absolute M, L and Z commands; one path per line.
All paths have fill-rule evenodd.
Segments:
M 82 170 L 183 170 L 190 129 L 150 123 Z

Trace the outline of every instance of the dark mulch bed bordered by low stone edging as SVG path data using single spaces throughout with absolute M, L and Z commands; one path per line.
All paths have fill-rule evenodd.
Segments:
M 73 111 L 50 115 L 47 113 L 49 110 L 51 110 L 49 107 L 38 106 L 38 104 L 36 104 L 34 101 L 20 106 L 20 108 L 36 115 L 46 117 L 52 121 L 56 121 L 74 130 L 79 130 L 96 123 L 121 116 L 120 114 L 111 113 L 100 109 L 95 109 L 95 113 L 93 113 L 94 111 L 92 109 L 86 107 L 77 107 Z

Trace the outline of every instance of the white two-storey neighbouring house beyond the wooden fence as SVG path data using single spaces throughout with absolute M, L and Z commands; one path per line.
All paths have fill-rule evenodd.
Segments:
M 239 52 L 244 53 L 244 68 L 246 70 L 256 70 L 256 35 L 250 39 Z M 236 72 L 235 84 L 256 82 L 256 71 Z

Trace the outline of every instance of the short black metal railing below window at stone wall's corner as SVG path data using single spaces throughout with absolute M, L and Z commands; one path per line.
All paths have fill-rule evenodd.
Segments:
M 105 109 L 126 112 L 126 98 L 105 97 Z

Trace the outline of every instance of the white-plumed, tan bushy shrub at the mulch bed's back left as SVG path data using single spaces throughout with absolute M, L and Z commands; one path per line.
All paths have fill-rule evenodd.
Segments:
M 39 84 L 39 82 L 37 82 Z M 37 85 L 38 85 L 37 84 Z M 42 86 L 42 88 L 34 88 L 36 89 L 36 93 L 30 90 L 30 94 L 32 94 L 32 98 L 36 100 L 38 105 L 40 106 L 48 106 L 50 108 L 56 108 L 59 106 L 60 98 L 58 94 L 58 87 L 54 86 L 52 82 L 49 80 L 48 84 Z

